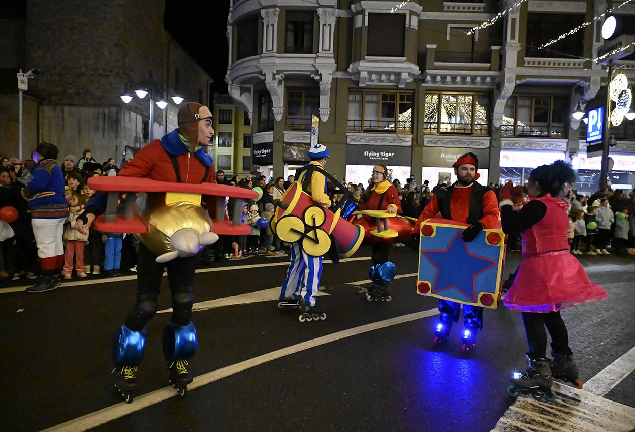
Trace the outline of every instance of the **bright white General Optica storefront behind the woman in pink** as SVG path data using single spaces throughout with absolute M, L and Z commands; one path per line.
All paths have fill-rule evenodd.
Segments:
M 525 184 L 533 168 L 553 163 L 558 159 L 565 160 L 565 151 L 544 150 L 501 150 L 500 176 L 501 184 L 511 180 L 514 184 Z

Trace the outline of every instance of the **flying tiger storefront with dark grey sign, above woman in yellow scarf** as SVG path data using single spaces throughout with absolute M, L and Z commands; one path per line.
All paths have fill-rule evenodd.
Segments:
M 368 184 L 373 166 L 383 163 L 391 179 L 403 184 L 411 173 L 412 148 L 404 145 L 347 144 L 346 181 Z

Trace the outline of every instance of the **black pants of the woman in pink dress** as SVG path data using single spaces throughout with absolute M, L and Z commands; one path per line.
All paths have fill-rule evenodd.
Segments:
M 551 336 L 551 348 L 559 354 L 571 355 L 569 334 L 560 311 L 549 313 L 523 312 L 523 323 L 527 335 L 529 352 L 536 358 L 543 358 L 547 350 L 547 334 Z

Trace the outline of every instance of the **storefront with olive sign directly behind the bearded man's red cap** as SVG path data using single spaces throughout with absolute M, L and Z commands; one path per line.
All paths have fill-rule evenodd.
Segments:
M 421 173 L 421 183 L 428 180 L 430 187 L 444 180 L 447 184 L 457 181 L 452 165 L 460 156 L 467 152 L 476 154 L 478 158 L 478 172 L 481 175 L 479 183 L 487 183 L 487 173 L 490 168 L 490 149 L 471 149 L 469 147 L 424 147 L 424 161 Z

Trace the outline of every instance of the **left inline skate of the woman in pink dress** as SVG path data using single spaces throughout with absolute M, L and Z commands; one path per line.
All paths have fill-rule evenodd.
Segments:
M 507 387 L 507 394 L 516 397 L 533 396 L 536 400 L 545 398 L 548 401 L 556 400 L 556 393 L 551 390 L 553 377 L 549 360 L 547 358 L 535 358 L 530 353 L 526 353 L 528 368 L 525 372 L 514 372 L 509 381 L 512 386 Z

